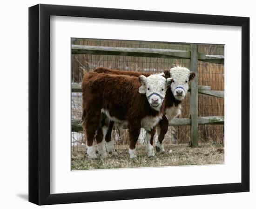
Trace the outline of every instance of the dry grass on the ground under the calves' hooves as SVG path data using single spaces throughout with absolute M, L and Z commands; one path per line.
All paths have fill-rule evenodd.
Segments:
M 172 150 L 169 154 L 167 150 Z M 221 144 L 201 144 L 199 148 L 190 148 L 187 144 L 166 145 L 166 152 L 148 158 L 145 149 L 137 149 L 137 159 L 130 159 L 128 150 L 117 150 L 118 156 L 106 159 L 88 159 L 86 152 L 72 155 L 72 170 L 139 168 L 177 165 L 202 165 L 224 163 L 224 146 Z

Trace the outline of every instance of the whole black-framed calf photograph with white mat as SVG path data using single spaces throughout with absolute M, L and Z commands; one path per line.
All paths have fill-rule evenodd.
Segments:
M 29 8 L 30 202 L 246 191 L 249 18 Z

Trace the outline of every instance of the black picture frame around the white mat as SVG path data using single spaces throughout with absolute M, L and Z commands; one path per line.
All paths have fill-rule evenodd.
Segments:
M 242 26 L 241 183 L 50 194 L 50 16 Z M 35 5 L 29 8 L 29 202 L 38 205 L 99 202 L 249 191 L 249 18 Z

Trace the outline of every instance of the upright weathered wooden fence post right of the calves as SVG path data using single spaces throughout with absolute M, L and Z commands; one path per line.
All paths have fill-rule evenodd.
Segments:
M 191 126 L 190 126 L 190 143 L 191 147 L 198 147 L 198 45 L 191 44 L 190 46 L 190 71 L 195 72 L 195 78 L 191 82 L 190 90 L 190 114 L 191 114 Z

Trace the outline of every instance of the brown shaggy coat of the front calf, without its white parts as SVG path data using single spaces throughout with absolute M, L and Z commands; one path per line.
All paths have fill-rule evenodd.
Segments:
M 139 93 L 138 77 L 90 72 L 82 81 L 83 124 L 88 146 L 93 145 L 96 131 L 97 143 L 102 141 L 101 127 L 104 125 L 101 110 L 108 110 L 111 117 L 128 122 L 130 149 L 140 134 L 141 119 L 164 113 L 164 101 L 160 111 L 152 109 L 145 94 Z M 101 120 L 99 120 L 101 118 Z M 102 122 L 103 121 L 103 122 Z M 100 133 L 100 134 L 99 134 Z M 111 132 L 110 132 L 111 133 Z

